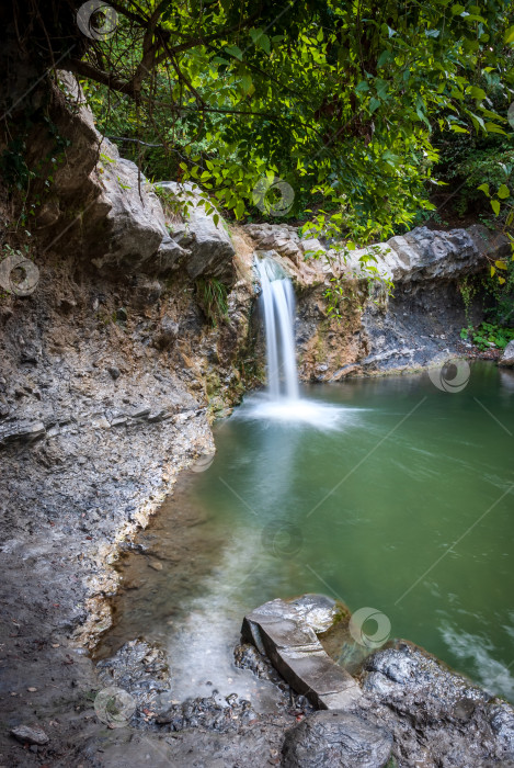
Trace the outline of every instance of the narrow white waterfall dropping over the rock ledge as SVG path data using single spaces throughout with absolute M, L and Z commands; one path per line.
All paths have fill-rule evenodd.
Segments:
M 266 331 L 267 391 L 272 400 L 299 398 L 295 350 L 295 294 L 273 259 L 256 262 Z

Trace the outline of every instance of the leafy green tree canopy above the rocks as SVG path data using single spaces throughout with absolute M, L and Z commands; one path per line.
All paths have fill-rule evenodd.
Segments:
M 366 241 L 434 207 L 441 136 L 512 139 L 510 0 L 23 0 L 12 15 L 147 174 L 196 180 L 237 218 L 310 214 Z

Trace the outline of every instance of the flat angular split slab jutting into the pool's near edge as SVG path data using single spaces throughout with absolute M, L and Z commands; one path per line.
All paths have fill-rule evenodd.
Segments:
M 244 617 L 241 633 L 315 707 L 342 710 L 361 698 L 361 688 L 330 658 L 316 634 L 333 623 L 335 613 L 334 601 L 319 595 L 272 600 Z

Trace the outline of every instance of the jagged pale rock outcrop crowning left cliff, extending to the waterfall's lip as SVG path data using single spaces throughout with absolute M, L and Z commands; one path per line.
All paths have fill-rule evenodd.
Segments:
M 105 274 L 169 275 L 184 267 L 192 279 L 205 275 L 233 282 L 230 236 L 198 204 L 196 192 L 189 215 L 170 221 L 153 185 L 96 131 L 82 91 L 66 72 L 59 74 L 52 109 L 70 149 L 66 162 L 55 169 L 52 194 L 37 212 L 46 249 L 60 248 L 66 238 L 68 248 Z M 46 144 L 45 151 L 37 148 L 39 155 L 49 150 Z M 162 187 L 181 195 L 174 182 Z

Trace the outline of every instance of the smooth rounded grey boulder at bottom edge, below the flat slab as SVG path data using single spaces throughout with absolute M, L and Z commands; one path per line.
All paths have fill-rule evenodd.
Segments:
M 284 768 L 382 768 L 392 735 L 350 712 L 315 712 L 290 729 L 284 742 Z

